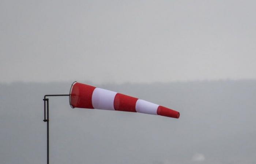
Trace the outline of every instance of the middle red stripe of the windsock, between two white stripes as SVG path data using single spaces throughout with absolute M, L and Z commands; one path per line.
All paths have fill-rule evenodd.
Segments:
M 136 112 L 135 106 L 138 98 L 117 93 L 114 98 L 114 109 L 126 112 Z

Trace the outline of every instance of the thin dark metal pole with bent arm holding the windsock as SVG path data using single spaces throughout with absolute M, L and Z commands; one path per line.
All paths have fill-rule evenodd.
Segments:
M 44 122 L 47 122 L 47 164 L 49 164 L 49 99 L 46 98 L 47 96 L 69 96 L 69 94 L 49 94 L 49 95 L 45 95 L 43 99 L 44 100 Z M 45 109 L 45 102 L 46 102 L 46 109 Z M 47 116 L 46 116 L 46 113 L 47 113 Z

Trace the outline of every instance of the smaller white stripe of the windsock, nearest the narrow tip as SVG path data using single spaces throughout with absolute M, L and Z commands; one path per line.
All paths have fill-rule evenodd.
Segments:
M 155 114 L 157 115 L 157 108 L 159 105 L 152 102 L 145 101 L 143 99 L 138 99 L 136 102 L 136 111 L 139 113 Z

